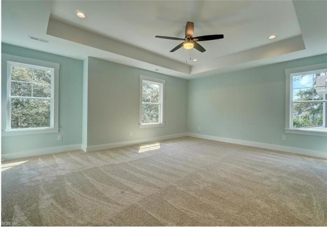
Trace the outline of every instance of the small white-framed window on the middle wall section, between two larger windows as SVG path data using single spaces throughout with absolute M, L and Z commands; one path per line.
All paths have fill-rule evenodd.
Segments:
M 140 127 L 164 126 L 165 81 L 140 76 Z

